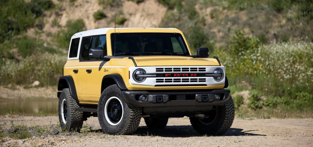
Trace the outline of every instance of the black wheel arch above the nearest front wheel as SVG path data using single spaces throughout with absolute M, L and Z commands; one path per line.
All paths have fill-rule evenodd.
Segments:
M 127 87 L 121 75 L 110 74 L 110 75 L 105 75 L 102 78 L 100 93 L 102 93 L 102 91 L 104 91 L 106 87 L 114 85 L 114 84 L 116 84 L 116 86 L 119 87 L 121 90 L 127 90 Z

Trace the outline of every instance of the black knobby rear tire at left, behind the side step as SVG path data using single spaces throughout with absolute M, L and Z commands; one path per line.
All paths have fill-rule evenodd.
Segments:
M 66 123 L 63 122 L 62 119 L 62 101 L 66 100 L 67 106 L 67 118 Z M 76 101 L 71 93 L 69 92 L 69 88 L 65 88 L 62 90 L 59 98 L 59 121 L 62 130 L 79 132 L 83 126 L 84 115 L 83 112 L 75 111 L 75 108 L 79 108 L 80 104 Z

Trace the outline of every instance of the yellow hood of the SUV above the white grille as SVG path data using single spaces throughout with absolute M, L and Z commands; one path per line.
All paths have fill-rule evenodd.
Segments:
M 133 56 L 137 66 L 219 66 L 213 58 L 187 56 Z

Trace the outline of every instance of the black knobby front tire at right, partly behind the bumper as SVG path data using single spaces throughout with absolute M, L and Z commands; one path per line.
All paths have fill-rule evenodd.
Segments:
M 209 125 L 203 124 L 197 117 L 190 117 L 190 123 L 199 134 L 223 135 L 232 126 L 235 116 L 233 98 L 229 99 L 222 106 L 216 106 L 217 116 Z

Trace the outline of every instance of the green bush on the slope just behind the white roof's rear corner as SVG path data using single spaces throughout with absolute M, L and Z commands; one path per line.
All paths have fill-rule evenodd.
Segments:
M 58 46 L 68 49 L 71 37 L 77 33 L 85 30 L 85 23 L 82 19 L 68 20 L 65 28 L 60 29 L 56 35 Z

